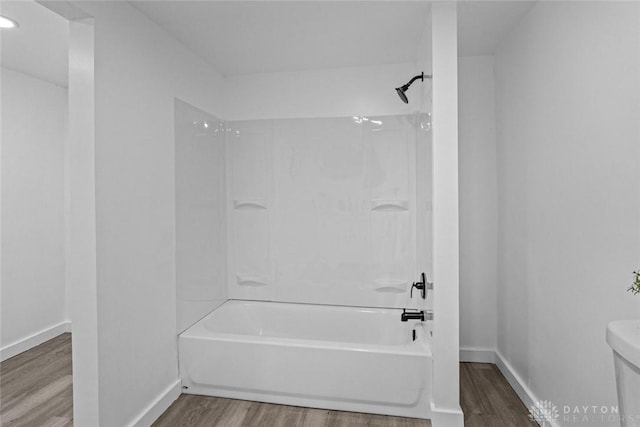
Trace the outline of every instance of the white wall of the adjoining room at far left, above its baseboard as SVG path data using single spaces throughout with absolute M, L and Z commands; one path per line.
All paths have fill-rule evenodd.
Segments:
M 67 320 L 67 90 L 5 68 L 1 73 L 0 347 L 6 347 Z

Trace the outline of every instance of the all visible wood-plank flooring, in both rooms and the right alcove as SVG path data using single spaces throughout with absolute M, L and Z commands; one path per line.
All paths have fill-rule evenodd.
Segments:
M 2 427 L 73 425 L 71 336 L 0 364 Z M 466 427 L 537 426 L 495 365 L 460 364 Z M 427 420 L 182 395 L 153 427 L 429 427 Z

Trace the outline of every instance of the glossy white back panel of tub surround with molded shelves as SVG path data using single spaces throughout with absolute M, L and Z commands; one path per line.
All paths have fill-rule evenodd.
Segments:
M 428 214 L 416 141 L 428 143 L 427 119 L 226 123 L 229 297 L 415 304 L 408 290 L 430 267 L 416 262 L 416 216 Z

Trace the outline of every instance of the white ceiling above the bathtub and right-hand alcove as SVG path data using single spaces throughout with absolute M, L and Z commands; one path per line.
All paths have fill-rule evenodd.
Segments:
M 223 75 L 412 62 L 428 1 L 130 2 Z M 460 55 L 492 54 L 533 1 L 462 1 Z

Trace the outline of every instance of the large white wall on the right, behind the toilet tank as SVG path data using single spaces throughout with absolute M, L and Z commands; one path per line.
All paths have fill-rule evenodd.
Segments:
M 640 313 L 638 22 L 539 2 L 496 53 L 498 350 L 556 405 L 616 403 L 605 327 Z

